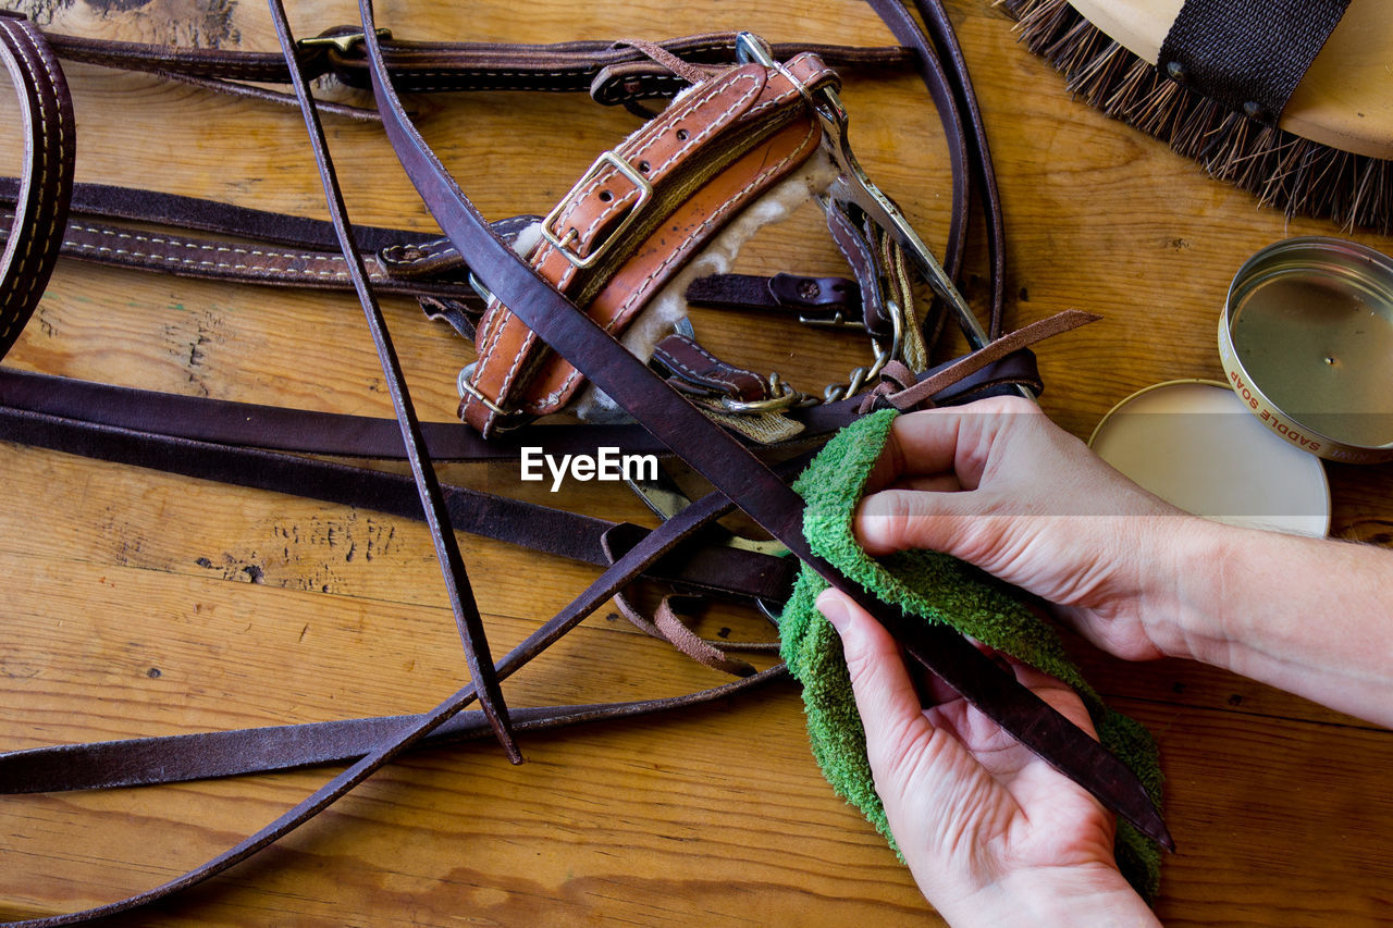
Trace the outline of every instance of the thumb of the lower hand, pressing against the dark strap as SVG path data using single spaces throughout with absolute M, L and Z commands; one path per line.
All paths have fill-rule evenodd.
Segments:
M 871 766 L 894 769 L 894 759 L 928 730 L 900 647 L 879 621 L 837 589 L 818 596 L 818 610 L 841 637 Z

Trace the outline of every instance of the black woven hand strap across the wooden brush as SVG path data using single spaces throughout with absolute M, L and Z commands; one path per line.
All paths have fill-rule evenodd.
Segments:
M 1276 125 L 1350 0 L 1185 0 L 1160 46 L 1160 71 Z

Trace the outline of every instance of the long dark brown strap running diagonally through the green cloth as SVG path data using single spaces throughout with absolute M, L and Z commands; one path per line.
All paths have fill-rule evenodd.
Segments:
M 1117 758 L 1103 751 L 1014 677 L 960 635 L 926 627 L 847 580 L 812 553 L 801 534 L 801 500 L 737 440 L 634 358 L 591 318 L 495 235 L 411 124 L 384 71 L 372 33 L 371 0 L 361 0 L 373 95 L 383 128 L 426 208 L 462 254 L 478 255 L 485 286 L 542 337 L 575 364 L 599 389 L 684 461 L 784 543 L 827 582 L 879 619 L 907 652 L 976 705 L 988 718 L 1088 789 L 1142 833 L 1170 837 L 1145 789 Z

